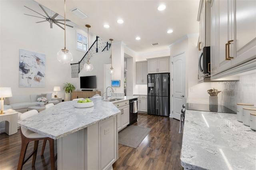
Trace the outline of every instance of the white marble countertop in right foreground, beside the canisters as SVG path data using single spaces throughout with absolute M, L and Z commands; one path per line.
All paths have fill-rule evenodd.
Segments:
M 236 114 L 186 110 L 181 165 L 189 170 L 255 170 L 256 132 L 238 122 Z

